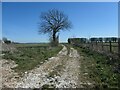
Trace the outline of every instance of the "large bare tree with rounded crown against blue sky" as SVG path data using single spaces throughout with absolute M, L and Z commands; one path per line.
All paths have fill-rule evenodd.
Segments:
M 71 22 L 68 20 L 68 16 L 57 9 L 41 13 L 40 18 L 41 23 L 39 32 L 44 34 L 49 33 L 54 44 L 58 42 L 57 40 L 59 40 L 56 34 L 60 32 L 60 30 L 67 30 L 71 28 Z

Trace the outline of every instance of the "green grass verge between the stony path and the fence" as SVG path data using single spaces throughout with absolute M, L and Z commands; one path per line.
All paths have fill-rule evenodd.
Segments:
M 95 87 L 120 89 L 120 73 L 118 72 L 119 60 L 110 59 L 110 57 L 86 48 L 74 48 L 83 56 L 83 60 L 81 60 L 82 72 L 88 73 L 88 79 L 95 82 Z

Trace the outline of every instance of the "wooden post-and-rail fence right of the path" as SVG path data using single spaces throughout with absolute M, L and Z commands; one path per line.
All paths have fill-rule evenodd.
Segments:
M 77 45 L 77 44 L 76 44 Z M 79 46 L 87 47 L 94 51 L 106 54 L 114 54 L 118 56 L 118 42 L 89 42 L 89 43 L 79 43 Z

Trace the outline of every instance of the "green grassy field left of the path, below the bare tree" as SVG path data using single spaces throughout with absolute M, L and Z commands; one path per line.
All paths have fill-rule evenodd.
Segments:
M 50 47 L 48 44 L 15 44 L 17 51 L 4 52 L 4 59 L 14 60 L 17 67 L 15 71 L 22 73 L 33 69 L 39 64 L 42 64 L 48 58 L 55 56 L 62 46 Z

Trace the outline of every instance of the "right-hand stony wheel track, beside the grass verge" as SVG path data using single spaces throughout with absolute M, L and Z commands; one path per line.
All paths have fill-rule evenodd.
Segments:
M 58 88 L 76 88 L 81 87 L 79 85 L 79 63 L 80 56 L 77 51 L 70 48 L 70 54 L 67 57 L 66 63 L 64 63 L 64 68 L 61 71 L 61 76 L 58 79 L 60 84 L 57 84 Z

